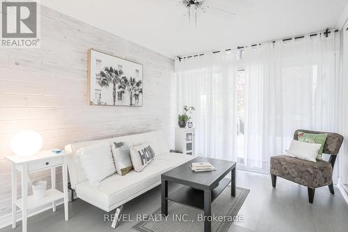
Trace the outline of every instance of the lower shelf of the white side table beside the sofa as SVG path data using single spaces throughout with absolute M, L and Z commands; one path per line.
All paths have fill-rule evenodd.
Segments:
M 34 200 L 33 195 L 30 195 L 28 196 L 28 210 L 32 210 L 40 206 L 45 206 L 48 203 L 52 203 L 53 201 L 58 201 L 63 198 L 63 192 L 56 189 L 46 190 L 45 198 L 38 200 Z M 22 199 L 17 199 L 16 205 L 22 209 Z

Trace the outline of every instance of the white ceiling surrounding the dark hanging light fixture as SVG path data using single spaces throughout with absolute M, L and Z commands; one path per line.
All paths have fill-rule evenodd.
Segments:
M 178 1 L 40 2 L 172 58 L 335 28 L 348 3 L 348 0 L 207 0 L 237 15 L 208 9 L 198 13 L 198 26 L 194 27 Z

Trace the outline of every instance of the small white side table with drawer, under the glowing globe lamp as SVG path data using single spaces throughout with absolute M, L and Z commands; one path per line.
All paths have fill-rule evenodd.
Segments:
M 52 150 L 43 150 L 36 155 L 20 157 L 7 156 L 12 167 L 12 228 L 16 227 L 17 207 L 22 209 L 22 231 L 26 232 L 26 219 L 28 211 L 34 210 L 47 203 L 52 203 L 56 211 L 56 201 L 64 199 L 65 221 L 68 221 L 68 169 L 67 155 L 70 153 L 55 154 Z M 63 192 L 56 190 L 56 167 L 62 166 Z M 28 173 L 42 169 L 51 169 L 52 188 L 46 190 L 45 198 L 34 200 L 33 195 L 28 196 Z M 22 199 L 17 199 L 17 171 L 22 173 Z

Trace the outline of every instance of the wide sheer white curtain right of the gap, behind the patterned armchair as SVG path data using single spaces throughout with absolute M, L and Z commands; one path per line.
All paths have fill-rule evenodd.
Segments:
M 244 159 L 269 169 L 296 129 L 338 131 L 340 98 L 335 33 L 269 42 L 245 51 Z

